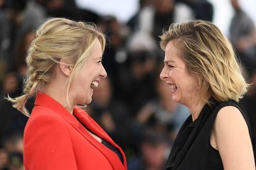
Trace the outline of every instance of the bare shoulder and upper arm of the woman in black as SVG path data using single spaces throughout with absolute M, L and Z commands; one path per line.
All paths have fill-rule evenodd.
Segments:
M 238 108 L 226 106 L 218 111 L 213 135 L 224 169 L 255 169 L 249 129 Z

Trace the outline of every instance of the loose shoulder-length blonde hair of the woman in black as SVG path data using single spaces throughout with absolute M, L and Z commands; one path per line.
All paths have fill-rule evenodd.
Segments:
M 207 95 L 223 102 L 237 102 L 247 92 L 241 63 L 233 47 L 217 26 L 211 22 L 194 20 L 174 23 L 160 36 L 164 50 L 169 41 L 176 41 L 180 57 L 191 75 L 197 78 L 202 99 L 208 103 Z

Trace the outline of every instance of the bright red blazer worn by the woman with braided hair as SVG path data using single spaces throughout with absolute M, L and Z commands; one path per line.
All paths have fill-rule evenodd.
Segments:
M 83 125 L 56 100 L 38 92 L 24 132 L 27 170 L 127 169 L 121 148 L 81 108 L 73 114 L 96 136 L 118 148 L 124 160 L 85 131 Z

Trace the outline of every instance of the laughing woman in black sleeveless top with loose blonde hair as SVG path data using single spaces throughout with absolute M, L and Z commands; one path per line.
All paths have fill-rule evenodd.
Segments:
M 160 77 L 192 113 L 165 169 L 255 169 L 249 122 L 237 103 L 248 84 L 228 39 L 212 23 L 195 20 L 169 26 L 161 47 Z

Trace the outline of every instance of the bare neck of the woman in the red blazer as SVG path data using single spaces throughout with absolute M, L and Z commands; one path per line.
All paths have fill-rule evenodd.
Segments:
M 42 92 L 49 95 L 57 102 L 61 103 L 61 105 L 65 107 L 70 114 L 73 115 L 74 103 L 71 103 L 70 100 L 70 103 L 67 103 L 66 86 L 55 86 L 54 84 L 47 84 Z

